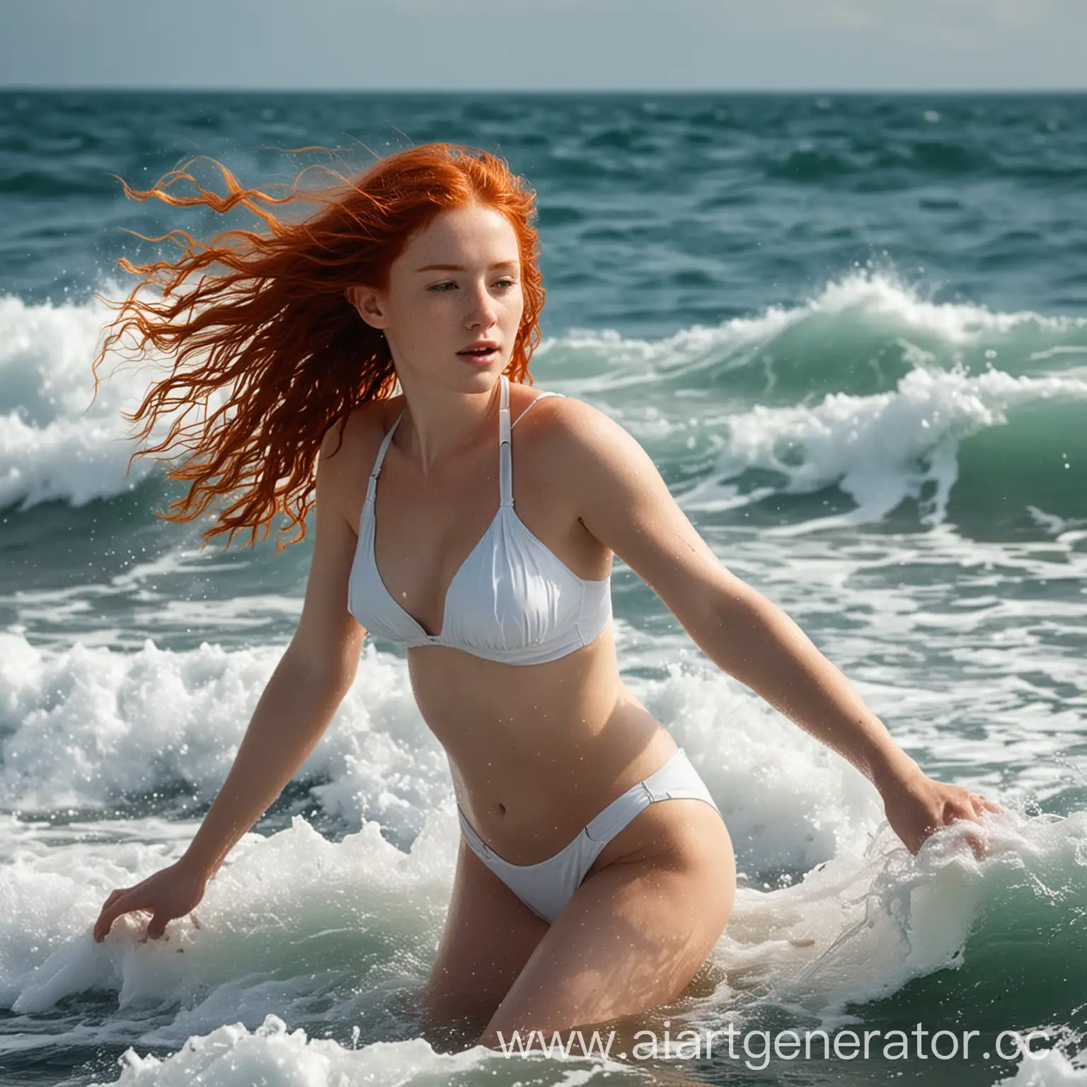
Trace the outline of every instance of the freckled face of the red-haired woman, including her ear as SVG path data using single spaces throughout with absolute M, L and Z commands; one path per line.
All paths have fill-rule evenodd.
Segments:
M 521 327 L 517 237 L 491 208 L 441 212 L 392 262 L 386 291 L 355 287 L 351 301 L 384 329 L 401 383 L 484 391 L 509 365 Z M 495 350 L 466 353 L 479 340 Z

